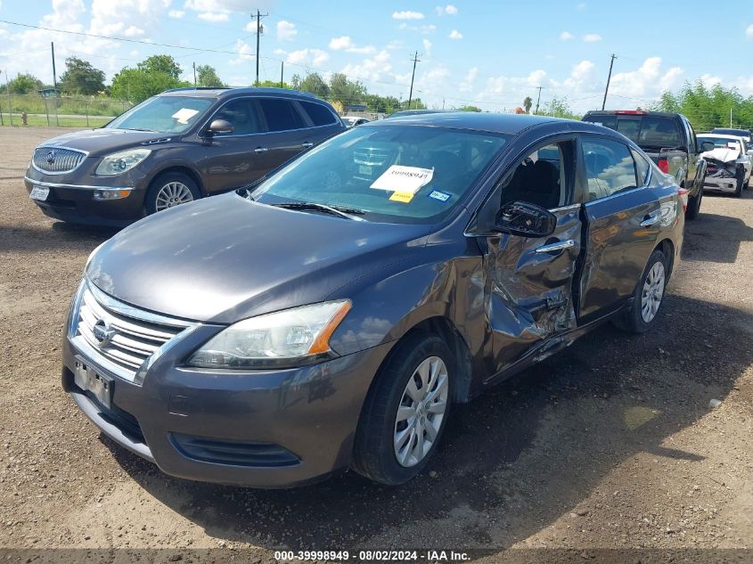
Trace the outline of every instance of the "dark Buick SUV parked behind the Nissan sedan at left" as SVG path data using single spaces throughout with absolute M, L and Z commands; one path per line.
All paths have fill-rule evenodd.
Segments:
M 34 151 L 24 184 L 49 217 L 127 225 L 265 176 L 343 131 L 330 104 L 277 88 L 178 88 Z

